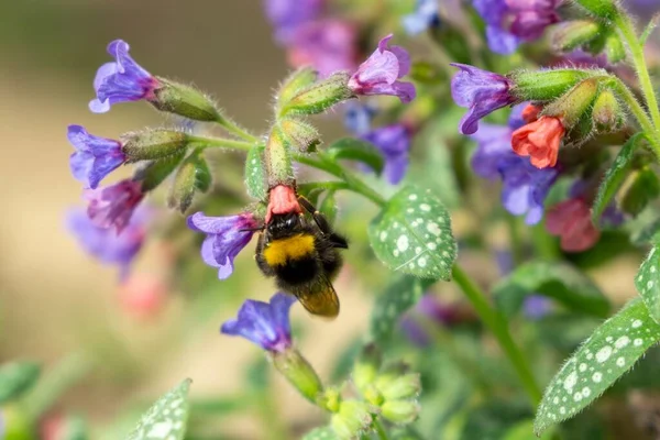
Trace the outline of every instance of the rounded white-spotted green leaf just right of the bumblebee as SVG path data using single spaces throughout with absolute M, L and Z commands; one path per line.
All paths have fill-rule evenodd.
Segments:
M 433 279 L 451 279 L 457 243 L 451 219 L 430 191 L 399 190 L 369 227 L 376 256 L 394 271 Z

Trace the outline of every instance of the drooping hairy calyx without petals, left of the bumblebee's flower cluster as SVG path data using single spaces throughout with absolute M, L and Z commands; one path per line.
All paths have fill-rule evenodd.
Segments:
M 195 193 L 206 193 L 210 185 L 211 172 L 209 166 L 202 153 L 195 152 L 186 157 L 176 173 L 167 197 L 167 206 L 184 213 L 193 204 Z

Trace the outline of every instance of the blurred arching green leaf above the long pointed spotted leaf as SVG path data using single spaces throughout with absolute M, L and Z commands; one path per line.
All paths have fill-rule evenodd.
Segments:
M 609 302 L 598 287 L 564 263 L 526 263 L 493 289 L 495 304 L 507 318 L 517 314 L 525 298 L 535 294 L 553 298 L 573 311 L 603 318 L 609 311 Z

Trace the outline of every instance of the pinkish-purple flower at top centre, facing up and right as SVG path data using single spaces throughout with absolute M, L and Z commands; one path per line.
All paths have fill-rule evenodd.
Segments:
M 410 102 L 416 95 L 415 86 L 397 80 L 410 70 L 410 56 L 400 46 L 388 47 L 389 40 L 392 34 L 381 40 L 374 53 L 349 79 L 349 88 L 356 95 L 393 95 L 402 102 Z

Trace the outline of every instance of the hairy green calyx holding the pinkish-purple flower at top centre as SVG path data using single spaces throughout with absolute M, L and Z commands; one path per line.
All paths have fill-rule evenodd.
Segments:
M 284 105 L 279 117 L 322 113 L 330 107 L 353 97 L 348 85 L 349 74 L 344 72 L 332 74 L 327 79 L 296 94 Z

